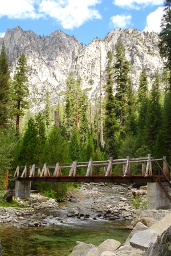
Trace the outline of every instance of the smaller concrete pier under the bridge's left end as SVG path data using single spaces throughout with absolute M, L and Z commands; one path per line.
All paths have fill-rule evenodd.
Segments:
M 28 198 L 31 193 L 31 181 L 15 181 L 15 197 Z

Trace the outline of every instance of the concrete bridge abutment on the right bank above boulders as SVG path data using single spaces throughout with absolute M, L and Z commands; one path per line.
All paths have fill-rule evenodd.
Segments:
M 167 191 L 170 190 L 168 183 L 165 182 L 163 185 Z M 147 199 L 149 210 L 170 209 L 170 201 L 158 182 L 147 184 Z

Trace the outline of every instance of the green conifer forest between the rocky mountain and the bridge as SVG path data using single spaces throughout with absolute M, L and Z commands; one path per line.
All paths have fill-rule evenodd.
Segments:
M 165 21 L 170 14 L 167 8 L 165 5 Z M 64 98 L 54 106 L 47 90 L 45 107 L 38 113 L 29 109 L 26 56 L 19 57 L 11 79 L 3 44 L 0 54 L 0 196 L 5 170 L 10 171 L 9 186 L 13 188 L 17 165 L 144 157 L 148 153 L 155 158 L 166 156 L 170 162 L 171 43 L 166 38 L 165 21 L 159 35 L 161 56 L 167 58 L 162 75 L 156 71 L 148 78 L 143 67 L 139 88 L 133 90 L 131 63 L 125 58 L 124 45 L 119 41 L 114 55 L 108 51 L 105 83 L 99 85 L 100 96 L 88 99 L 82 90 L 82 78 L 71 72 Z M 93 81 L 90 79 L 89 83 Z M 155 171 L 157 166 L 156 170 L 154 166 Z M 93 172 L 99 174 L 102 170 L 93 169 Z M 113 169 L 113 174 L 121 172 L 118 166 Z M 131 172 L 139 174 L 141 168 L 133 166 Z M 37 182 L 32 186 L 50 194 L 58 192 L 58 196 L 63 197 L 69 184 Z

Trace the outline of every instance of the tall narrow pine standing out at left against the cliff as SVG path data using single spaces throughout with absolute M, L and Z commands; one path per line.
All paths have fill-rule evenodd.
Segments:
M 19 134 L 19 122 L 20 117 L 24 115 L 25 109 L 28 108 L 28 101 L 26 97 L 29 95 L 27 86 L 27 61 L 24 54 L 22 54 L 18 60 L 18 67 L 15 70 L 13 79 L 13 115 L 16 116 L 16 131 L 17 136 Z

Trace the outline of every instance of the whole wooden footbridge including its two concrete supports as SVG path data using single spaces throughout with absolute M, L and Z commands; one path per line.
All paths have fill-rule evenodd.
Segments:
M 160 164 L 159 164 L 160 162 Z M 158 174 L 153 174 L 152 163 L 158 167 Z M 131 174 L 131 165 L 141 164 L 141 174 Z M 115 165 L 123 165 L 123 174 L 113 174 Z M 95 175 L 93 168 L 103 168 L 103 174 Z M 137 166 L 139 168 L 139 166 Z M 80 169 L 86 169 L 84 175 L 79 175 Z M 115 159 L 107 161 L 77 162 L 70 164 L 54 164 L 17 166 L 14 173 L 16 178 L 15 196 L 29 197 L 31 181 L 51 181 L 51 182 L 114 182 L 114 183 L 148 183 L 149 200 L 148 209 L 168 209 L 170 208 L 170 166 L 166 157 L 155 159 L 150 154 L 148 157 Z M 66 172 L 69 172 L 66 175 Z M 78 172 L 78 175 L 77 173 Z M 83 171 L 82 171 L 83 173 Z M 169 189 L 169 190 L 168 190 Z M 155 190 L 155 191 L 154 191 Z M 162 190 L 158 192 L 158 190 Z M 164 194 L 163 194 L 164 193 Z M 152 195 L 153 194 L 153 195 Z M 162 207 L 162 208 L 161 208 Z

